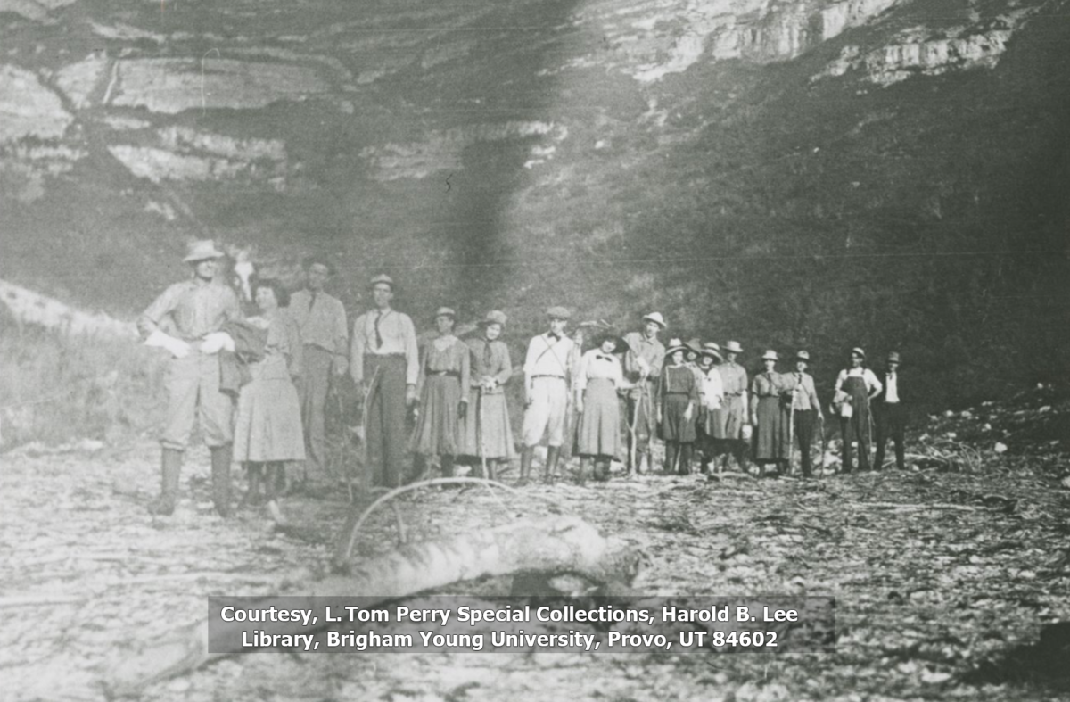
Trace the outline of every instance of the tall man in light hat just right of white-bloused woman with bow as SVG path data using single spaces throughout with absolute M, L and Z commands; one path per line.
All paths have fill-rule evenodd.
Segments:
M 655 393 L 666 355 L 666 348 L 658 340 L 658 334 L 666 329 L 661 312 L 644 315 L 641 321 L 641 332 L 630 332 L 624 337 L 628 347 L 624 354 L 624 377 L 631 385 L 626 394 L 629 474 L 641 472 L 644 456 L 647 470 L 654 466 L 649 445 L 655 430 Z

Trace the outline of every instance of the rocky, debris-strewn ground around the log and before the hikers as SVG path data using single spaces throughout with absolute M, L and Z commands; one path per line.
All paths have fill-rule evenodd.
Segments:
M 933 417 L 911 470 L 812 480 L 615 475 L 606 485 L 425 489 L 401 499 L 411 538 L 576 514 L 643 549 L 656 595 L 832 594 L 835 654 L 353 654 L 231 658 L 153 686 L 154 700 L 1051 700 L 1070 696 L 1065 424 L 1044 387 Z M 952 436 L 953 434 L 953 436 Z M 961 460 L 949 460 L 956 456 Z M 943 461 L 938 460 L 943 457 Z M 288 498 L 294 526 L 213 516 L 192 453 L 177 515 L 154 519 L 157 448 L 83 442 L 9 452 L 0 474 L 0 669 L 5 700 L 98 700 L 107 667 L 204 614 L 208 595 L 300 590 L 326 569 L 341 492 Z M 511 482 L 511 480 L 509 480 Z M 535 499 L 537 498 L 537 499 Z M 385 551 L 394 517 L 361 553 Z M 505 593 L 484 582 L 479 592 Z M 1063 625 L 1065 626 L 1065 625 Z M 1043 628 L 1043 627 L 1046 627 Z M 1042 634 L 1046 631 L 1046 634 Z M 1044 644 L 1034 644 L 1043 636 Z M 1054 643 L 1052 643 L 1054 642 Z M 1056 646 L 1052 648 L 1051 646 Z M 1046 646 L 1046 647 L 1045 647 Z M 1061 656 L 1061 659 L 1059 658 Z M 1053 662 L 1054 661 L 1054 662 Z

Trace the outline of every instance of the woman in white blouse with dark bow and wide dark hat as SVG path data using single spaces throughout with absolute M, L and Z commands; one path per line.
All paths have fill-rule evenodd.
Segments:
M 624 386 L 624 368 L 613 354 L 624 351 L 627 345 L 614 332 L 602 334 L 596 344 L 580 358 L 576 377 L 581 485 L 592 461 L 595 479 L 608 480 L 610 462 L 621 451 L 621 400 L 616 393 Z

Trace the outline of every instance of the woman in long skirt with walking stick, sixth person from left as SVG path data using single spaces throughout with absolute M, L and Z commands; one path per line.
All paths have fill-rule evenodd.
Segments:
M 509 347 L 499 337 L 508 318 L 493 310 L 479 326 L 483 334 L 468 341 L 471 350 L 472 412 L 460 421 L 461 446 L 465 462 L 482 475 L 487 466 L 487 477 L 498 479 L 498 466 L 516 457 L 513 429 L 509 426 L 509 408 L 505 401 L 505 384 L 513 377 Z

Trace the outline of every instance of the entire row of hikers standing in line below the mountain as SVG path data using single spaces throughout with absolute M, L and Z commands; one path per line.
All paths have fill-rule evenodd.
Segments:
M 374 307 L 356 318 L 350 333 L 341 302 L 324 292 L 331 262 L 314 258 L 306 260 L 305 287 L 292 294 L 277 280 L 258 280 L 258 314 L 246 318 L 233 290 L 214 281 L 223 256 L 212 241 L 190 244 L 184 259 L 190 278 L 169 287 L 138 320 L 146 342 L 172 355 L 162 490 L 152 512 L 174 509 L 183 452 L 198 416 L 212 453 L 213 501 L 223 515 L 231 510 L 233 461 L 246 467 L 254 500 L 261 489 L 274 498 L 288 462 L 305 461 L 308 474 L 322 475 L 328 388 L 347 371 L 364 398 L 370 485 L 414 479 L 431 457 L 444 476 L 464 462 L 493 479 L 516 458 L 504 312 L 488 312 L 479 333 L 462 340 L 454 334 L 455 310 L 441 307 L 438 334 L 421 352 L 412 319 L 392 306 L 394 280 L 378 275 L 370 280 Z M 733 458 L 740 470 L 753 459 L 762 474 L 768 464 L 785 472 L 797 443 L 802 474 L 812 474 L 810 447 L 815 431 L 824 431 L 825 416 L 806 372 L 807 351 L 795 354 L 791 372 L 777 371 L 778 354 L 766 351 L 764 369 L 748 382 L 737 341 L 670 339 L 666 348 L 659 335 L 667 324 L 658 312 L 623 336 L 588 325 L 569 336 L 567 308 L 550 307 L 546 316 L 549 329 L 529 341 L 522 367 L 521 483 L 532 479 L 544 439 L 547 482 L 556 478 L 563 449 L 579 455 L 580 482 L 608 479 L 611 461 L 622 453 L 629 474 L 643 472 L 644 463 L 651 471 L 654 438 L 664 442 L 666 472 L 690 473 L 696 457 L 702 472 L 715 463 L 724 469 Z M 588 339 L 593 346 L 583 352 Z M 863 367 L 865 357 L 854 349 L 836 382 L 843 470 L 853 468 L 853 441 L 859 468 L 869 467 L 871 410 L 877 467 L 891 438 L 902 468 L 899 355 L 888 354 L 883 382 Z

